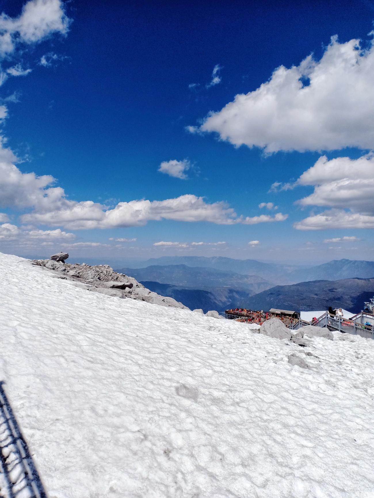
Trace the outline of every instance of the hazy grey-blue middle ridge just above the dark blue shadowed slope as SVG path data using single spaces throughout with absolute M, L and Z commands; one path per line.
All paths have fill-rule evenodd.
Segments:
M 131 275 L 138 281 L 153 281 L 177 285 L 184 288 L 211 290 L 216 287 L 231 287 L 257 294 L 273 287 L 258 275 L 243 275 L 214 268 L 192 267 L 186 264 L 153 265 L 147 268 L 121 268 L 120 273 Z

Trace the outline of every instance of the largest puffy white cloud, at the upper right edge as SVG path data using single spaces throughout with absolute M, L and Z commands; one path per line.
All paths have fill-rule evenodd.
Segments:
M 339 43 L 322 58 L 280 66 L 257 90 L 236 95 L 211 112 L 200 131 L 216 132 L 235 146 L 279 150 L 374 148 L 374 45 Z M 191 129 L 194 131 L 194 129 Z

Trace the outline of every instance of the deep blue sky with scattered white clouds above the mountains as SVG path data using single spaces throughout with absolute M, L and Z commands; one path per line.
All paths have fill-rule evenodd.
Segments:
M 374 2 L 0 11 L 0 250 L 373 259 Z

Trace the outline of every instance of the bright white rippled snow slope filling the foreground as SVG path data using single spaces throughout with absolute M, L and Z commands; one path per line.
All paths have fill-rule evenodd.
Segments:
M 0 380 L 49 498 L 372 495 L 373 341 L 313 338 L 301 369 L 246 324 L 1 253 L 0 279 Z

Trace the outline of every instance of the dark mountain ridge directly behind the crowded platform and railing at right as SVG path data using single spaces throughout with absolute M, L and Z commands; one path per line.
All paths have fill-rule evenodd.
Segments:
M 341 307 L 359 313 L 364 301 L 374 295 L 374 278 L 314 280 L 294 285 L 277 285 L 251 296 L 242 306 L 256 310 L 281 308 L 313 311 Z

